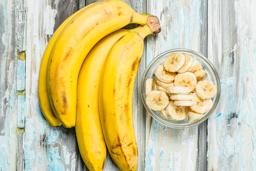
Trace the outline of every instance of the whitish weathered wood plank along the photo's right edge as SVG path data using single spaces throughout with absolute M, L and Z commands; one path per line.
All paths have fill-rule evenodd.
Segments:
M 250 0 L 208 2 L 208 57 L 222 89 L 208 119 L 208 170 L 256 169 L 255 8 Z

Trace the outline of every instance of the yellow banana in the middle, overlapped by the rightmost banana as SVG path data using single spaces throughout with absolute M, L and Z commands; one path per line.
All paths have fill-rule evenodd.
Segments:
M 101 39 L 84 59 L 78 76 L 76 138 L 84 163 L 90 171 L 103 170 L 106 144 L 99 118 L 99 81 L 105 59 L 112 45 L 135 29 L 119 29 Z

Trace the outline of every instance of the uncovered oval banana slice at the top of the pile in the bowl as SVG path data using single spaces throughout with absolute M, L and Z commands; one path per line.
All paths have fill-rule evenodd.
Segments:
M 185 56 L 182 53 L 172 53 L 166 57 L 163 65 L 165 66 L 166 71 L 176 72 L 183 66 L 184 63 Z

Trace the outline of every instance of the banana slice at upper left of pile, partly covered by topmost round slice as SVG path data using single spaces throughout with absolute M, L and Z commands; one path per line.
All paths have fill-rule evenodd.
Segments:
M 174 77 L 176 76 L 175 72 L 167 72 L 163 65 L 158 65 L 157 69 L 154 72 L 158 80 L 164 83 L 172 83 Z

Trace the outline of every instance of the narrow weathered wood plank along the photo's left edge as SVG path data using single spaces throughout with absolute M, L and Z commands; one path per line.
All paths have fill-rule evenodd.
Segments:
M 0 1 L 0 170 L 16 169 L 16 1 Z

